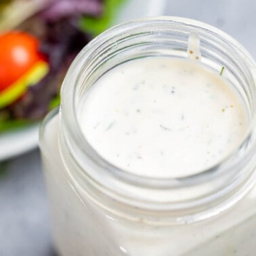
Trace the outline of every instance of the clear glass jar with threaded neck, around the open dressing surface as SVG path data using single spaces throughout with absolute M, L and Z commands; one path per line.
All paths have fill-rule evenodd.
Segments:
M 187 58 L 191 32 L 201 62 L 239 93 L 249 129 L 224 161 L 196 175 L 127 173 L 101 158 L 79 128 L 81 99 L 112 67 L 148 56 Z M 255 61 L 239 43 L 185 18 L 115 26 L 89 43 L 62 85 L 60 110 L 41 125 L 40 147 L 54 242 L 61 255 L 255 255 Z

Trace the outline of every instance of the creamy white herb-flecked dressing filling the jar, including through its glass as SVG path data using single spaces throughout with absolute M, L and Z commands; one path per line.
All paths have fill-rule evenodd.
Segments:
M 175 178 L 211 168 L 238 148 L 249 126 L 238 92 L 225 78 L 225 68 L 215 72 L 200 63 L 195 33 L 187 52 L 187 59 L 130 60 L 95 82 L 77 112 L 95 152 L 135 175 Z M 59 148 L 59 125 L 58 114 L 45 124 L 41 150 L 60 255 L 254 255 L 255 187 L 232 209 L 205 221 L 162 227 L 143 218 L 122 219 L 95 204 L 72 180 L 61 153 L 68 150 Z M 104 198 L 104 204 L 110 201 Z

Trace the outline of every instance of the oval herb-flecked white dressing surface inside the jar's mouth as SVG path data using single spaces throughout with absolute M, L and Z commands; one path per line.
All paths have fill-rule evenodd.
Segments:
M 80 123 L 113 165 L 149 177 L 182 177 L 212 167 L 242 141 L 242 102 L 198 62 L 132 60 L 104 74 L 83 100 Z

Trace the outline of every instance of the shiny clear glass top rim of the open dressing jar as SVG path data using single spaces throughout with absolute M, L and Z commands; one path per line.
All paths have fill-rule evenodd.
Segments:
M 199 22 L 197 20 L 191 20 L 188 18 L 181 18 L 181 17 L 171 17 L 171 16 L 159 16 L 159 17 L 150 17 L 150 18 L 142 18 L 139 20 L 132 20 L 130 22 L 124 22 L 119 25 L 113 26 L 112 28 L 106 30 L 104 33 L 99 35 L 98 37 L 95 37 L 90 43 L 88 43 L 81 53 L 77 56 L 77 58 L 74 60 L 72 65 L 70 66 L 70 69 L 68 70 L 68 73 L 66 77 L 73 77 L 73 85 L 76 86 L 77 83 L 79 83 L 79 76 L 81 72 L 83 71 L 83 60 L 88 59 L 89 56 L 93 54 L 93 51 L 97 49 L 100 45 L 102 45 L 104 42 L 106 42 L 110 37 L 114 37 L 116 34 L 131 30 L 133 28 L 136 28 L 137 26 L 154 26 L 155 24 L 161 23 L 161 22 L 169 22 L 170 24 L 184 24 L 185 26 L 190 26 L 192 29 L 194 28 L 202 28 L 204 30 L 210 31 L 211 33 L 215 33 L 228 41 L 234 48 L 238 51 L 238 53 L 241 55 L 241 58 L 244 62 L 246 62 L 247 65 L 250 66 L 251 72 L 253 70 L 256 70 L 256 64 L 255 60 L 253 60 L 253 57 L 249 54 L 247 49 L 244 49 L 240 43 L 238 43 L 235 39 L 233 39 L 230 35 L 224 33 L 223 31 L 219 30 L 218 28 L 215 28 L 214 26 L 211 26 L 209 24 L 205 24 L 204 22 Z M 77 76 L 77 77 L 76 77 Z M 253 83 L 255 84 L 255 77 L 253 80 Z M 71 93 L 71 94 L 70 94 Z M 65 127 L 68 130 L 68 135 L 71 135 L 71 137 L 74 139 L 74 142 L 77 144 L 77 146 L 82 148 L 83 153 L 88 154 L 91 156 L 89 152 L 95 153 L 95 150 L 87 143 L 87 148 L 83 148 L 83 144 L 86 144 L 85 136 L 83 135 L 83 132 L 81 131 L 81 128 L 79 125 L 75 125 L 76 129 L 74 129 L 74 123 L 78 124 L 78 116 L 75 112 L 75 98 L 77 91 L 74 89 L 72 92 L 70 91 L 70 80 L 68 79 L 64 80 L 64 83 L 62 85 L 61 95 L 62 95 L 62 102 L 61 102 L 61 112 L 62 117 L 64 119 Z M 66 108 L 72 108 L 72 114 L 69 114 L 68 116 L 65 116 Z M 70 124 L 72 124 L 72 127 L 70 127 Z M 247 131 L 247 134 L 244 136 L 244 140 L 242 140 L 242 143 L 236 147 L 236 149 L 230 153 L 229 156 L 224 158 L 219 163 L 216 163 L 213 167 L 210 167 L 209 169 L 205 169 L 201 171 L 200 173 L 188 175 L 186 177 L 148 177 L 148 176 L 142 176 L 137 175 L 135 173 L 129 173 L 123 169 L 119 169 L 119 167 L 116 167 L 112 165 L 111 163 L 108 163 L 106 159 L 104 159 L 102 156 L 97 154 L 97 158 L 95 159 L 94 156 L 90 157 L 92 161 L 103 163 L 104 170 L 108 171 L 110 175 L 114 175 L 114 177 L 122 179 L 125 182 L 135 184 L 136 186 L 142 186 L 142 187 L 150 187 L 150 188 L 158 188 L 158 189 L 165 189 L 165 188 L 180 188 L 184 186 L 194 186 L 195 184 L 202 184 L 205 180 L 209 180 L 212 178 L 216 178 L 219 175 L 224 175 L 225 173 L 229 173 L 229 175 L 232 175 L 234 172 L 233 170 L 237 169 L 234 167 L 237 167 L 238 165 L 241 165 L 241 163 L 246 163 L 253 155 L 255 155 L 256 152 L 256 140 L 253 141 L 253 144 L 255 146 L 251 146 L 251 150 L 247 150 L 246 154 L 242 154 L 241 157 L 238 157 L 235 159 L 230 159 L 234 154 L 238 154 L 244 146 L 246 146 L 249 142 L 251 143 L 251 138 L 253 136 L 253 131 L 255 130 L 256 126 L 256 116 L 255 113 L 253 113 L 253 118 L 251 120 L 251 124 L 249 126 L 249 129 Z M 66 131 L 66 130 L 65 130 Z M 97 153 L 97 152 L 96 152 Z M 83 169 L 83 168 L 82 168 Z M 221 171 L 217 171 L 219 169 L 222 169 Z

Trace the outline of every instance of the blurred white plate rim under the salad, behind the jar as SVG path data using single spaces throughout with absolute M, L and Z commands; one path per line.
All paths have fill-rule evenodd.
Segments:
M 129 0 L 125 3 L 116 24 L 146 16 L 161 16 L 167 0 Z M 39 141 L 39 125 L 33 125 L 0 135 L 0 161 L 17 156 L 33 148 Z

